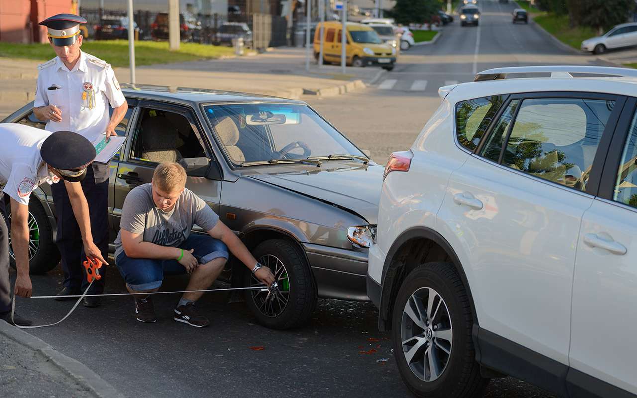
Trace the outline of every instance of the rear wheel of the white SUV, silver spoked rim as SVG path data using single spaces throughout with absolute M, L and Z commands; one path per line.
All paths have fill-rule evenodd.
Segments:
M 433 322 L 427 324 L 427 313 L 432 312 Z M 392 340 L 399 373 L 413 394 L 436 398 L 482 394 L 489 380 L 480 376 L 475 361 L 472 328 L 469 297 L 453 264 L 430 262 L 406 276 L 394 303 Z M 416 345 L 420 348 L 411 352 Z M 406 355 L 412 356 L 410 363 Z M 437 370 L 432 371 L 432 363 Z

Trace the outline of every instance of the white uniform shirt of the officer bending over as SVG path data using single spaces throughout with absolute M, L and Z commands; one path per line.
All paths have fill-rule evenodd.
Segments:
M 54 182 L 40 155 L 42 143 L 50 135 L 24 124 L 0 124 L 0 186 L 18 203 L 28 205 L 32 190 L 45 181 Z

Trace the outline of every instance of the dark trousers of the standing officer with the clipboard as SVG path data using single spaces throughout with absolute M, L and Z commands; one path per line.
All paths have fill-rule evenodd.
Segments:
M 102 253 L 104 259 L 108 259 L 108 179 L 96 183 L 92 167 L 87 167 L 86 176 L 80 182 L 84 196 L 89 204 L 90 232 L 93 243 Z M 57 217 L 57 247 L 62 255 L 62 271 L 64 271 L 64 286 L 73 290 L 85 289 L 89 282 L 84 274 L 82 261 L 86 260 L 82 245 L 82 234 L 75 219 L 75 213 L 71 208 L 69 194 L 66 192 L 64 181 L 51 185 L 55 215 Z M 106 266 L 99 269 L 101 279 L 93 282 L 90 294 L 99 294 L 104 290 L 106 283 Z

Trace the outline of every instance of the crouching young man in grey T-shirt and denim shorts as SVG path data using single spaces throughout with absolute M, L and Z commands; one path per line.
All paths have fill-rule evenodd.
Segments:
M 228 250 L 259 280 L 271 285 L 275 277 L 252 257 L 248 248 L 206 203 L 185 188 L 186 172 L 173 162 L 159 164 L 152 183 L 129 192 L 115 241 L 115 262 L 131 293 L 156 292 L 164 274 L 189 273 L 185 290 L 205 290 L 217 279 Z M 190 234 L 197 224 L 209 236 Z M 175 307 L 174 319 L 194 327 L 208 326 L 195 302 L 203 292 L 186 292 Z M 152 295 L 134 295 L 140 322 L 156 322 Z

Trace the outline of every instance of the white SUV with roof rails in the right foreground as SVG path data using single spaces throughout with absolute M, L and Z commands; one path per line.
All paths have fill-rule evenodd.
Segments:
M 368 295 L 403 380 L 423 397 L 505 374 L 637 397 L 637 71 L 475 80 L 441 87 L 385 169 Z

